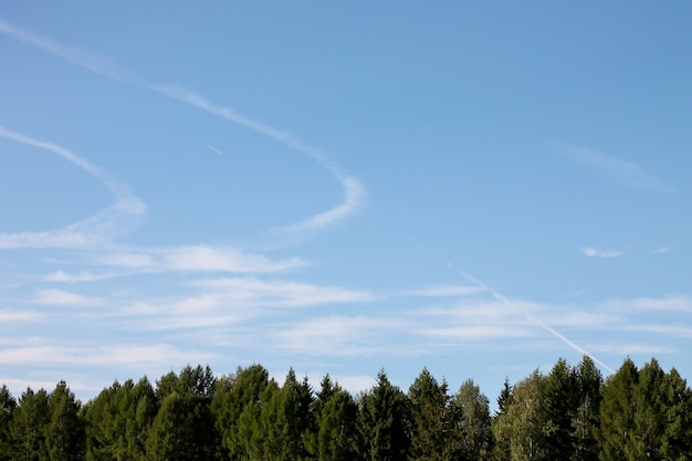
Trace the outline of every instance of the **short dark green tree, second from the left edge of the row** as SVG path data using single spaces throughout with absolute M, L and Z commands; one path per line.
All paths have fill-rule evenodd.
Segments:
M 14 455 L 22 461 L 49 459 L 45 447 L 45 427 L 50 422 L 49 396 L 44 389 L 33 391 L 28 388 L 19 399 L 12 415 L 10 428 Z

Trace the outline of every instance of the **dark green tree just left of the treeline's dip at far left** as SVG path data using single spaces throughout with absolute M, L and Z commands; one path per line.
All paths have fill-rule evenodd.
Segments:
M 80 405 L 65 381 L 60 381 L 49 398 L 50 421 L 45 444 L 51 461 L 84 459 L 85 432 L 78 417 Z

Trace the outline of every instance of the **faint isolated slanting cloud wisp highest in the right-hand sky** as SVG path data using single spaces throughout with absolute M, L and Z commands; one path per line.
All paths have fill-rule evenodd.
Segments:
M 594 172 L 602 175 L 622 186 L 656 192 L 674 192 L 670 184 L 646 172 L 639 165 L 631 161 L 580 147 L 566 147 L 563 150 L 565 156 L 572 161 L 584 165 Z

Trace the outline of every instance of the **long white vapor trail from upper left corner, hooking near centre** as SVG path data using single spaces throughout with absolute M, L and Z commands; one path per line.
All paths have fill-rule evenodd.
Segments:
M 187 88 L 175 85 L 149 85 L 141 83 L 129 72 L 123 71 L 109 61 L 103 60 L 102 57 L 95 56 L 90 53 L 85 53 L 77 49 L 65 46 L 51 39 L 46 39 L 31 31 L 13 25 L 7 21 L 3 21 L 2 19 L 0 19 L 0 33 L 29 46 L 64 59 L 65 61 L 76 64 L 96 74 L 103 75 L 107 78 L 128 85 L 138 86 L 140 88 L 159 93 L 171 99 L 176 99 L 181 103 L 191 105 L 201 111 L 224 118 L 231 123 L 252 129 L 253 132 L 256 132 L 261 135 L 268 136 L 286 147 L 293 148 L 313 158 L 342 185 L 342 188 L 344 190 L 344 200 L 342 201 L 342 203 L 337 205 L 331 210 L 317 213 L 312 218 L 272 231 L 272 233 L 274 234 L 291 234 L 298 231 L 319 230 L 326 228 L 337 221 L 340 221 L 354 214 L 365 203 L 365 188 L 357 179 L 346 175 L 334 160 L 328 158 L 321 150 L 305 144 L 304 142 L 300 140 L 289 133 L 279 130 L 269 125 L 249 118 L 228 107 L 217 106 L 205 97 L 200 96 L 199 94 L 191 92 Z

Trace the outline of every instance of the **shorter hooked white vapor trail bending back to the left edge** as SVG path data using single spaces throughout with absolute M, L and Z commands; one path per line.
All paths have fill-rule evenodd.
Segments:
M 115 198 L 115 203 L 83 221 L 44 232 L 0 233 L 0 249 L 88 248 L 108 243 L 127 233 L 147 213 L 146 205 L 124 185 L 101 168 L 55 144 L 38 140 L 0 125 L 0 137 L 59 155 L 98 179 Z

